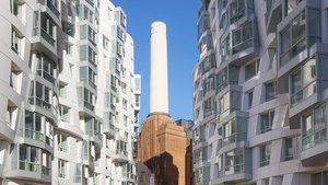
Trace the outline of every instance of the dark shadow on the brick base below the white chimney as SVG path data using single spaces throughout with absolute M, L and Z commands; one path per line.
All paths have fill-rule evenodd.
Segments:
M 145 165 L 155 175 L 155 185 L 178 185 L 179 171 L 168 152 L 151 158 Z

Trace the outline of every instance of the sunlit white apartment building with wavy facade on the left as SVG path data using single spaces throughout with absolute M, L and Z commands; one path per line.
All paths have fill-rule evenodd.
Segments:
M 0 184 L 136 184 L 140 76 L 107 0 L 0 2 Z

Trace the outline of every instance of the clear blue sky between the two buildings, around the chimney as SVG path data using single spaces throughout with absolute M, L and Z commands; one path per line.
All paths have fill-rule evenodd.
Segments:
M 134 41 L 134 72 L 142 78 L 140 123 L 149 114 L 150 26 L 167 27 L 168 112 L 174 119 L 192 119 L 192 68 L 198 58 L 197 10 L 200 0 L 112 0 L 127 14 Z

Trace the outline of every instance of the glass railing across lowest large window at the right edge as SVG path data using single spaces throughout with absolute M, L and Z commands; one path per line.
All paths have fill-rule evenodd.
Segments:
M 324 127 L 312 135 L 305 136 L 302 139 L 302 150 L 313 148 L 324 141 L 327 141 L 327 127 Z

